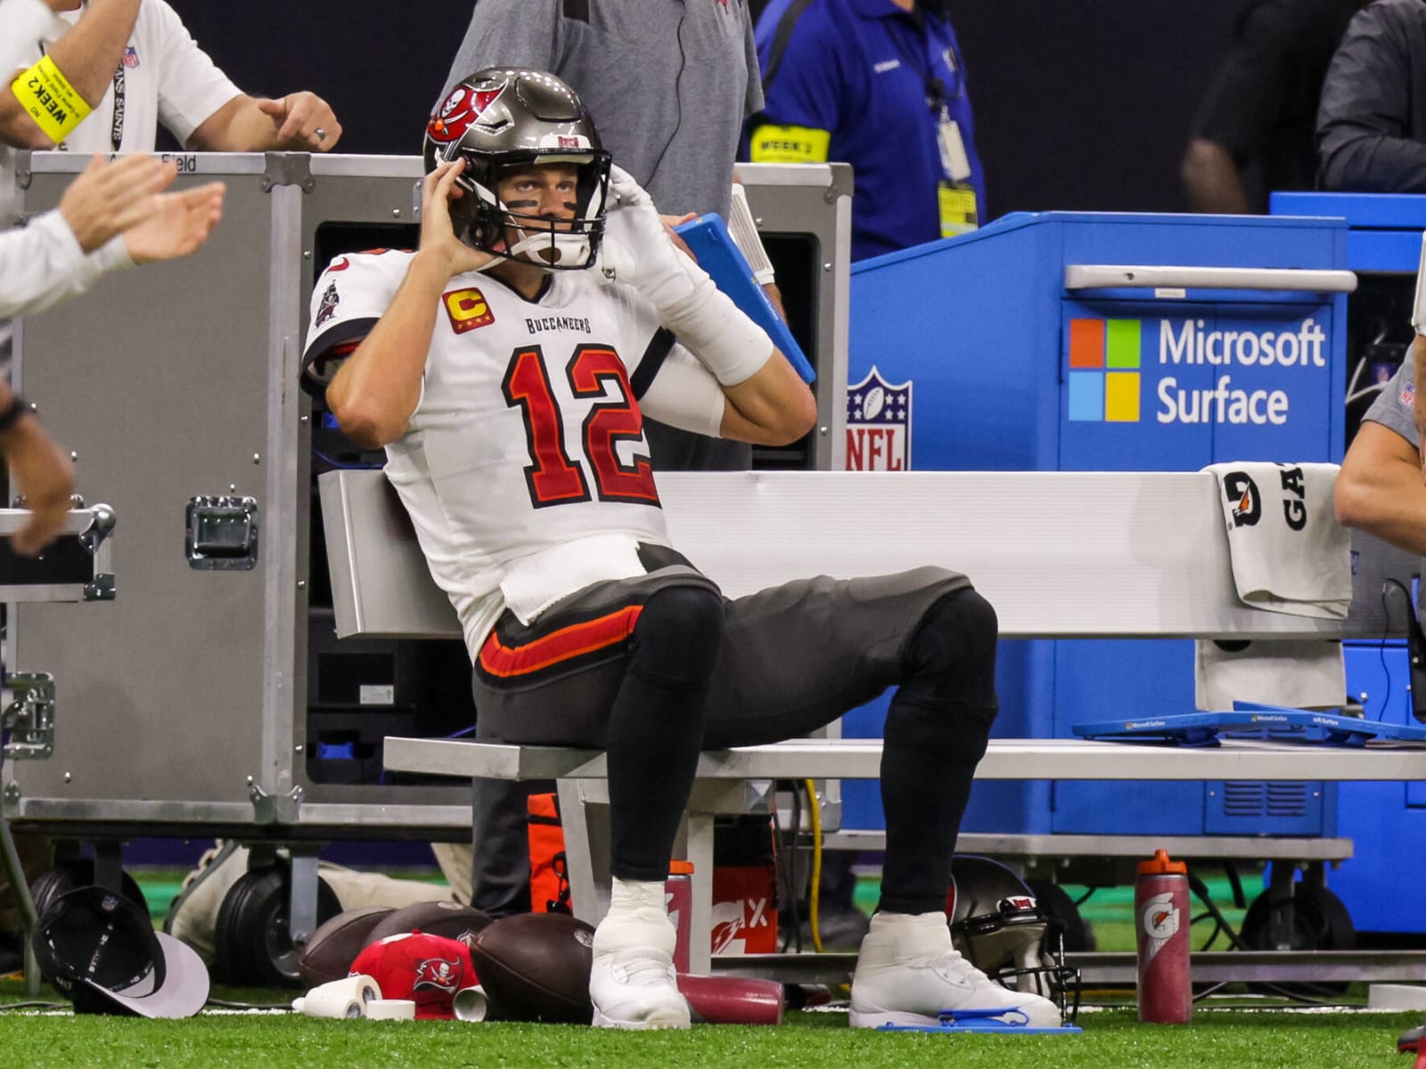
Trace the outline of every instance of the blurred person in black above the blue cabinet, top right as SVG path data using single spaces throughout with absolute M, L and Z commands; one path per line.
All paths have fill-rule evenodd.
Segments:
M 1268 211 L 1273 190 L 1310 190 L 1322 80 L 1366 0 L 1252 0 L 1194 115 L 1179 175 L 1191 211 Z

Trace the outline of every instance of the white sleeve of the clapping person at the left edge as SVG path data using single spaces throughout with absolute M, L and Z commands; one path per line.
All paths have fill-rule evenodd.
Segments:
M 123 235 L 86 255 L 64 217 L 47 211 L 23 229 L 0 234 L 0 319 L 39 315 L 133 262 Z

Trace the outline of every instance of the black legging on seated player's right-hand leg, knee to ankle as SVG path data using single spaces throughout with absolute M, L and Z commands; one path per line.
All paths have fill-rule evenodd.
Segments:
M 945 908 L 961 815 L 998 710 L 995 630 L 990 603 L 957 590 L 927 610 L 903 651 L 881 753 L 887 912 Z

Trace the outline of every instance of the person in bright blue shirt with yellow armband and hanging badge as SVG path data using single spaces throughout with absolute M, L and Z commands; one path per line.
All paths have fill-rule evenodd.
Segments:
M 955 30 L 937 0 L 771 0 L 757 20 L 753 162 L 853 167 L 851 258 L 985 221 L 985 178 Z

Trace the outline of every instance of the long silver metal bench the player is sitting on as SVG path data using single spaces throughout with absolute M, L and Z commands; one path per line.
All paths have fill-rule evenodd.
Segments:
M 338 633 L 458 637 L 455 613 L 431 582 L 381 472 L 331 472 L 319 486 Z M 750 472 L 663 475 L 659 486 L 673 543 L 734 597 L 801 576 L 944 564 L 971 576 L 1007 639 L 1345 633 L 1339 620 L 1268 613 L 1238 600 L 1216 485 L 1205 473 Z M 736 539 L 724 537 L 727 517 L 736 517 Z M 706 753 L 686 835 L 693 931 L 709 925 L 714 814 L 742 811 L 749 784 L 760 781 L 876 778 L 880 754 L 878 740 L 836 738 Z M 388 737 L 385 765 L 558 780 L 576 909 L 590 921 L 603 915 L 606 892 L 596 887 L 593 861 L 607 842 L 585 812 L 606 800 L 602 753 Z M 992 740 L 977 777 L 1409 780 L 1426 778 L 1426 750 Z M 707 948 L 694 946 L 692 965 L 709 968 Z

